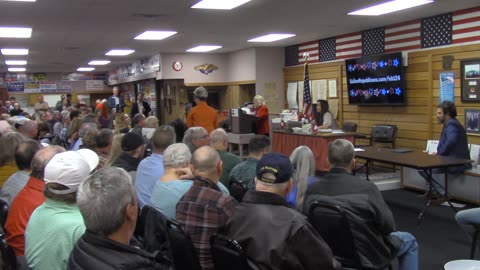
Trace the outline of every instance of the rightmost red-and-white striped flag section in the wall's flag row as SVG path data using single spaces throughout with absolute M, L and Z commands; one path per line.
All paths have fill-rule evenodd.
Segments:
M 480 41 L 480 7 L 453 13 L 453 44 Z

